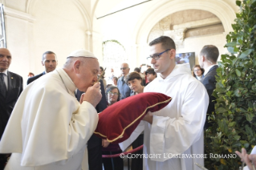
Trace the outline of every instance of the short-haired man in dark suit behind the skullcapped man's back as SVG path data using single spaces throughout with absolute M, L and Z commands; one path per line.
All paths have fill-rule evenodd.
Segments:
M 42 65 L 45 67 L 45 71 L 43 71 L 43 73 L 39 75 L 35 75 L 34 77 L 30 77 L 29 79 L 27 79 L 26 84 L 33 82 L 35 79 L 39 79 L 39 77 L 41 77 L 42 75 L 54 71 L 56 66 L 58 65 L 57 56 L 52 51 L 46 51 L 45 53 L 43 53 L 41 62 Z

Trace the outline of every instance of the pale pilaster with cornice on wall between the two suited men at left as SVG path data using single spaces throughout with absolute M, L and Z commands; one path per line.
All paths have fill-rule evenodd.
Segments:
M 26 81 L 28 72 L 35 70 L 33 47 L 33 22 L 30 14 L 5 8 L 6 46 L 12 55 L 9 71 L 17 73 Z

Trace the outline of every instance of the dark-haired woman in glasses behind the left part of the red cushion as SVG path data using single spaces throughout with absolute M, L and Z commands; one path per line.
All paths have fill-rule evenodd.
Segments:
M 120 91 L 116 86 L 110 86 L 106 90 L 108 107 L 120 100 Z M 108 140 L 102 140 L 103 155 L 115 155 L 122 152 L 119 144 L 110 144 Z M 123 170 L 124 162 L 120 156 L 116 158 L 103 158 L 104 170 Z

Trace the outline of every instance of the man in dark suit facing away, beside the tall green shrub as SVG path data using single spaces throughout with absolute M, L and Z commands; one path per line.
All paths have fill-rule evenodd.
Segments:
M 203 78 L 200 80 L 201 83 L 204 84 L 207 93 L 209 95 L 209 106 L 207 109 L 207 115 L 212 114 L 214 109 L 214 104 L 213 100 L 215 98 L 213 97 L 213 90 L 216 87 L 216 78 L 215 76 L 217 75 L 217 58 L 219 55 L 219 51 L 217 47 L 213 45 L 207 45 L 202 48 L 199 56 L 199 64 L 201 68 L 205 69 L 204 75 L 202 76 Z M 205 121 L 205 129 L 207 129 L 210 124 L 207 119 L 208 116 L 206 116 L 206 121 Z

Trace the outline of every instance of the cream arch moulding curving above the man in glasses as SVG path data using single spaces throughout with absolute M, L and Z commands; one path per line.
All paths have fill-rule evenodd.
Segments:
M 148 12 L 140 17 L 139 22 L 136 24 L 136 28 L 132 34 L 132 42 L 134 42 L 133 51 L 135 51 L 132 55 L 136 56 L 136 64 L 147 62 L 146 59 L 141 59 L 140 56 L 144 56 L 148 51 L 148 34 L 152 30 L 152 27 L 156 25 L 162 18 L 165 18 L 169 14 L 176 13 L 182 10 L 206 10 L 210 13 L 214 14 L 221 20 L 221 23 L 224 27 L 224 33 L 220 34 L 218 38 L 221 38 L 221 41 L 217 42 L 217 47 L 223 47 L 225 45 L 225 37 L 228 32 L 232 29 L 231 23 L 235 18 L 235 11 L 232 6 L 224 1 L 215 1 L 215 0 L 181 0 L 181 1 L 169 1 L 169 2 L 158 2 L 156 6 L 152 6 L 148 9 Z M 198 47 L 193 47 L 193 50 L 196 52 L 199 50 L 199 46 L 203 46 L 205 42 L 207 42 L 206 38 L 202 39 Z M 213 40 L 213 39 L 212 39 Z M 191 42 L 186 42 L 191 43 Z M 208 43 L 213 44 L 213 41 L 209 41 Z M 191 47 L 192 48 L 192 47 Z M 190 49 L 186 49 L 191 51 Z M 187 52 L 187 51 L 180 51 Z M 224 49 L 221 49 L 220 52 L 224 52 Z

